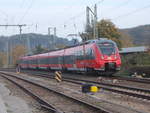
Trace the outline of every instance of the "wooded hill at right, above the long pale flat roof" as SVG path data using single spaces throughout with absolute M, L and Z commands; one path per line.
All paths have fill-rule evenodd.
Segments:
M 121 29 L 120 31 L 129 35 L 135 45 L 150 45 L 150 25 Z

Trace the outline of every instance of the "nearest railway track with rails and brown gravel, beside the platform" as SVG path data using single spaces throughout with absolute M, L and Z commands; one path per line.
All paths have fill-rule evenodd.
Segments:
M 23 79 L 21 77 L 14 76 L 12 74 L 1 73 L 1 76 L 5 77 L 9 81 L 15 83 L 20 88 L 24 89 L 28 93 L 32 94 L 42 107 L 58 113 L 112 113 L 99 106 L 86 103 L 80 99 L 73 98 L 65 95 L 56 90 L 45 87 L 44 85 L 35 83 L 31 80 Z M 17 83 L 15 82 L 17 80 Z M 56 100 L 55 100 L 56 99 Z M 51 103 L 52 101 L 52 103 Z M 60 103 L 58 103 L 60 101 Z M 81 111 L 75 111 L 81 110 Z M 74 112 L 73 112 L 74 111 Z M 87 112 L 88 111 L 88 112 Z

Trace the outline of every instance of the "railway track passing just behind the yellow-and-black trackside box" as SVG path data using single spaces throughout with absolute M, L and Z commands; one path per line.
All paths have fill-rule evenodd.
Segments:
M 46 77 L 50 79 L 54 79 L 53 76 L 50 76 L 46 73 L 37 73 L 35 71 L 26 72 L 30 75 L 38 75 L 40 77 Z M 150 100 L 150 90 L 144 89 L 144 88 L 137 88 L 137 87 L 131 87 L 131 86 L 125 86 L 125 85 L 118 85 L 118 84 L 112 84 L 112 83 L 102 83 L 102 82 L 95 82 L 90 80 L 83 80 L 83 79 L 77 79 L 72 77 L 63 77 L 63 81 L 66 82 L 72 82 L 75 84 L 82 85 L 84 83 L 94 84 L 97 85 L 99 88 L 103 88 L 104 90 L 124 94 L 132 97 L 137 97 L 141 99 Z

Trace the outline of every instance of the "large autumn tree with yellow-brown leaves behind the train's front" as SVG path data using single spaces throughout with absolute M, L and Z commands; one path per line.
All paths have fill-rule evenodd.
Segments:
M 99 38 L 108 38 L 117 43 L 118 47 L 122 47 L 122 43 L 120 41 L 121 34 L 119 29 L 110 21 L 110 20 L 101 20 L 97 22 L 96 25 L 98 29 L 98 37 Z M 93 39 L 93 27 L 86 28 L 86 33 L 80 34 L 82 39 Z

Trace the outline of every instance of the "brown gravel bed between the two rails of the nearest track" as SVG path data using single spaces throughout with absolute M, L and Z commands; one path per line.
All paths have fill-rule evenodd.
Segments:
M 13 78 L 14 79 L 14 78 Z M 42 99 L 46 100 L 50 104 L 54 105 L 59 110 L 65 112 L 65 113 L 74 113 L 74 112 L 81 112 L 81 113 L 99 113 L 93 110 L 93 108 L 90 108 L 89 106 L 84 106 L 82 104 L 79 104 L 78 102 L 72 101 L 66 97 L 60 96 L 54 92 L 47 91 L 43 88 L 40 88 L 38 86 L 26 83 L 22 80 L 17 80 L 17 83 L 21 84 L 28 90 L 34 92 L 38 96 L 40 96 Z

